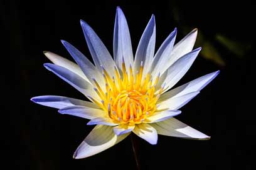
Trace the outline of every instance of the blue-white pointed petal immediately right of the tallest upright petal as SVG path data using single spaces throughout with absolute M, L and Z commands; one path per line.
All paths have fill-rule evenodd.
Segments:
M 134 73 L 139 71 L 141 68 L 141 63 L 143 64 L 143 76 L 149 71 L 149 66 L 154 56 L 154 48 L 156 43 L 156 23 L 154 15 L 152 15 L 145 31 L 141 36 L 139 41 L 139 46 L 137 47 L 135 60 L 134 60 Z

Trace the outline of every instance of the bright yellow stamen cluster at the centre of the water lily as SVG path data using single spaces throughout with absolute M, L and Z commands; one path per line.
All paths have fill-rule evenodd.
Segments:
M 110 78 L 107 71 L 102 68 L 105 79 L 105 93 L 99 84 L 93 79 L 96 88 L 94 90 L 99 95 L 101 102 L 92 99 L 102 109 L 107 112 L 107 116 L 115 123 L 142 123 L 147 121 L 147 116 L 151 116 L 157 109 L 156 103 L 163 92 L 163 86 L 156 91 L 156 84 L 159 80 L 152 82 L 151 75 L 147 74 L 142 80 L 143 66 L 140 71 L 133 73 L 132 67 L 129 74 L 125 64 L 122 63 L 122 72 L 115 68 L 115 76 Z

